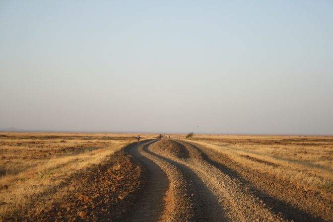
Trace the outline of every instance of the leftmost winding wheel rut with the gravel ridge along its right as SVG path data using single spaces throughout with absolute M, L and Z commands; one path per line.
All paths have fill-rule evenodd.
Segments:
M 144 151 L 154 142 L 127 150 L 149 169 L 145 195 L 129 221 L 195 221 L 190 183 L 177 167 Z

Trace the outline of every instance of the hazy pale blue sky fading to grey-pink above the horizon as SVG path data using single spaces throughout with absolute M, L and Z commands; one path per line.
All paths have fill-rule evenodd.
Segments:
M 1 0 L 7 127 L 333 134 L 333 1 Z

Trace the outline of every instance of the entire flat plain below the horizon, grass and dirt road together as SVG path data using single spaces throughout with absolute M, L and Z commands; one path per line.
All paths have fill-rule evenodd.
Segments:
M 333 221 L 333 137 L 0 133 L 0 221 Z

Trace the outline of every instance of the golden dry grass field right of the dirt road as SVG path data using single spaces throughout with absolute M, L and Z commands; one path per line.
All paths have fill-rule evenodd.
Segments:
M 246 167 L 333 193 L 333 137 L 196 135 L 192 141 Z

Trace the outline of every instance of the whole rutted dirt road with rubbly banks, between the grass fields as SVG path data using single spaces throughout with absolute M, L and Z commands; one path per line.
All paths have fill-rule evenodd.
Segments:
M 333 221 L 332 200 L 311 193 L 305 198 L 303 190 L 286 181 L 183 141 L 153 140 L 130 146 L 80 177 L 83 186 L 69 192 L 63 198 L 67 201 L 55 201 L 52 208 L 21 219 Z

